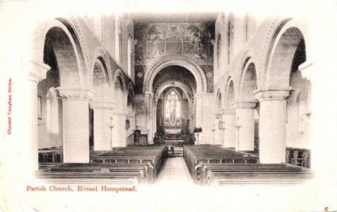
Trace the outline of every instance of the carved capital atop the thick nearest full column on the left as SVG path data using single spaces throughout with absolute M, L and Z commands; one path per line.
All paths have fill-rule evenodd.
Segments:
M 91 89 L 81 88 L 57 88 L 59 90 L 59 97 L 62 100 L 92 100 L 94 91 Z

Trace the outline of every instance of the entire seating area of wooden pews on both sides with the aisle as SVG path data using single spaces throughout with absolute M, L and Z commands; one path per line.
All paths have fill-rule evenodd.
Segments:
M 302 184 L 314 177 L 306 167 L 261 164 L 259 155 L 213 145 L 129 146 L 92 152 L 90 163 L 40 163 L 35 176 L 61 184 Z M 176 147 L 177 148 L 177 147 Z M 178 146 L 179 148 L 179 146 Z

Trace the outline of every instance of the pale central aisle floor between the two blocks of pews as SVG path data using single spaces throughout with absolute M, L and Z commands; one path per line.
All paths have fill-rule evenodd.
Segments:
M 184 158 L 167 158 L 158 176 L 157 183 L 193 183 Z

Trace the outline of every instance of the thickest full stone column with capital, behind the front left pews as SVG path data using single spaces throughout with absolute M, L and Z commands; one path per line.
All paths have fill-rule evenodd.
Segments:
M 64 163 L 89 163 L 88 89 L 57 88 L 63 101 Z

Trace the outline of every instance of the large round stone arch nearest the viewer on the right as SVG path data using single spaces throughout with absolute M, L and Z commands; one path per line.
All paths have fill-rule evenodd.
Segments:
M 264 70 L 264 88 L 285 88 L 290 83 L 294 54 L 301 42 L 306 52 L 307 30 L 298 20 L 285 19 L 278 25 L 268 47 L 268 56 Z M 300 65 L 300 64 L 298 64 Z

